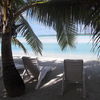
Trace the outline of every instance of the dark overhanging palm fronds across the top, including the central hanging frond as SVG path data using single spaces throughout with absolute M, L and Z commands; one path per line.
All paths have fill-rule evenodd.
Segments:
M 2 2 L 0 2 L 0 5 L 2 6 Z M 14 18 L 18 19 L 26 11 L 31 18 L 35 16 L 39 22 L 52 26 L 57 31 L 57 40 L 62 49 L 68 45 L 73 47 L 73 41 L 77 33 L 76 24 L 80 23 L 91 26 L 94 42 L 100 42 L 98 38 L 100 37 L 99 0 L 14 0 L 11 1 L 11 5 Z M 27 35 L 24 36 L 27 37 Z M 73 41 L 68 42 L 69 40 Z

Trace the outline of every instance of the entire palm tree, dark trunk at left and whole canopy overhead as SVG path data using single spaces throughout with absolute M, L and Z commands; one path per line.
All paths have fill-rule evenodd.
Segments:
M 25 86 L 15 69 L 11 50 L 11 38 L 21 33 L 28 43 L 41 45 L 35 38 L 27 21 L 22 16 L 37 17 L 39 22 L 52 26 L 57 31 L 57 40 L 62 50 L 66 46 L 73 47 L 77 30 L 76 24 L 91 25 L 96 31 L 94 36 L 99 41 L 99 0 L 1 0 L 2 9 L 2 65 L 5 88 L 9 96 L 19 96 L 24 93 Z M 91 16 L 92 15 L 92 16 Z M 15 26 L 15 27 L 13 27 Z M 16 31 L 15 31 L 16 30 Z M 6 41 L 5 41 L 6 40 Z M 34 48 L 36 45 L 34 46 Z M 35 51 L 41 52 L 41 48 Z M 15 92 L 14 92 L 15 91 Z

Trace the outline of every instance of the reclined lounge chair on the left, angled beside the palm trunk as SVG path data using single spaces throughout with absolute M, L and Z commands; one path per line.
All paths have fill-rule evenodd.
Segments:
M 29 70 L 31 72 L 31 74 L 33 75 L 32 79 L 34 78 L 38 81 L 37 85 L 35 87 L 35 89 L 38 89 L 42 80 L 45 78 L 45 76 L 51 70 L 51 68 L 48 67 L 48 66 L 45 66 L 40 70 L 39 67 L 38 67 L 38 62 L 37 62 L 36 58 L 32 59 L 32 58 L 29 58 L 29 57 L 22 57 L 22 60 L 23 60 L 24 66 L 25 66 L 25 71 L 24 71 L 23 75 L 25 73 L 30 75 L 29 72 L 28 72 L 28 70 Z M 29 81 L 32 80 L 32 79 L 29 79 Z

